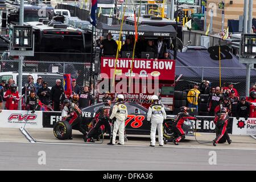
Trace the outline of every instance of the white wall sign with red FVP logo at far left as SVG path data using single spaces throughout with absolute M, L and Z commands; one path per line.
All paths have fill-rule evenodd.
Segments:
M 34 114 L 23 110 L 2 110 L 0 113 L 0 127 L 20 128 L 42 128 L 42 111 L 36 111 Z

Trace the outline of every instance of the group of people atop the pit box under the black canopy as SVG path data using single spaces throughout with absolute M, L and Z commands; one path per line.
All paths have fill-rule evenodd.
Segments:
M 96 41 L 96 47 L 101 48 L 102 55 L 106 57 L 115 57 L 118 48 L 119 57 L 122 57 L 123 52 L 133 52 L 133 35 L 127 36 L 125 43 L 121 40 L 121 46 L 119 47 L 118 42 L 119 40 L 114 40 L 112 34 L 109 33 L 106 36 L 106 39 L 101 36 L 100 39 Z M 146 58 L 142 57 L 142 52 L 151 52 L 154 54 L 154 59 L 170 59 L 170 54 L 168 52 L 170 48 L 170 40 L 165 40 L 163 37 L 159 37 L 154 41 L 152 39 L 145 39 L 144 36 L 140 36 L 135 47 L 135 57 Z

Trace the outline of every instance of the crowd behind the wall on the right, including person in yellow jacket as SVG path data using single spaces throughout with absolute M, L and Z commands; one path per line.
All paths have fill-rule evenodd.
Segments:
M 203 81 L 201 85 L 195 83 L 193 89 L 187 94 L 188 106 L 196 107 L 200 111 L 200 95 L 208 94 L 207 110 L 209 115 L 216 115 L 222 107 L 225 107 L 230 117 L 248 118 L 251 113 L 250 102 L 256 102 L 256 84 L 250 89 L 250 97 L 240 97 L 233 83 L 224 84 L 223 87 L 210 87 L 209 81 Z M 201 90 L 201 91 L 200 91 Z

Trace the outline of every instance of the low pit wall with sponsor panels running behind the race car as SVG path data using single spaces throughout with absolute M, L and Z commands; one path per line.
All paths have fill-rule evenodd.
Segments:
M 175 115 L 170 115 L 175 117 Z M 53 125 L 61 119 L 60 111 L 31 111 L 25 110 L 2 110 L 0 113 L 1 127 L 7 128 L 20 128 L 26 127 L 32 129 L 42 129 L 43 127 L 52 128 Z M 197 133 L 214 133 L 214 117 L 210 116 L 197 116 L 198 121 L 192 121 L 196 126 Z M 196 125 L 195 125 L 196 124 Z M 227 127 L 228 133 L 234 135 L 256 135 L 256 118 L 236 119 L 230 117 Z

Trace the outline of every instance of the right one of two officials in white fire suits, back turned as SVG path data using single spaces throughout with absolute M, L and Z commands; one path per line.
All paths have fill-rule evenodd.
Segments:
M 161 146 L 163 146 L 163 121 L 166 119 L 166 111 L 164 106 L 158 103 L 152 104 L 148 108 L 147 121 L 151 121 L 151 145 L 155 146 L 155 133 L 156 128 L 158 129 L 158 141 Z

